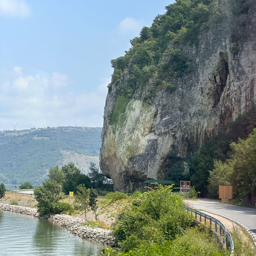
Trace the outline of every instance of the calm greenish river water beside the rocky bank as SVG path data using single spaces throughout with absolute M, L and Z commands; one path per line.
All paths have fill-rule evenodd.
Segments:
M 0 255 L 98 256 L 102 243 L 82 239 L 51 221 L 0 210 Z

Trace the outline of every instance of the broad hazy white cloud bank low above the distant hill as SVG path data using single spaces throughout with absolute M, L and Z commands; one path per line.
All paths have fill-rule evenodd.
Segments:
M 74 93 L 66 74 L 23 74 L 14 67 L 11 77 L 0 78 L 0 130 L 32 126 L 102 126 L 103 111 L 110 78 L 89 93 Z M 63 90 L 65 86 L 65 90 Z M 77 118 L 76 118 L 77 116 Z M 75 120 L 76 119 L 76 120 Z M 16 121 L 17 120 L 17 121 Z

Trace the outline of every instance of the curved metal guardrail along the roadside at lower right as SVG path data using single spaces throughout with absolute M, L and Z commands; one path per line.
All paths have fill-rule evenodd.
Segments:
M 202 213 L 199 210 L 195 210 L 193 208 L 190 208 L 188 206 L 184 205 L 184 208 L 189 212 L 191 211 L 192 213 L 195 213 L 195 219 L 197 220 L 197 216 L 199 216 L 200 218 L 200 222 L 202 222 L 202 218 L 204 218 L 204 222 L 206 222 L 206 219 L 208 219 L 210 221 L 210 227 L 212 227 L 212 223 L 215 224 L 215 232 L 219 232 L 220 236 L 223 239 L 223 243 L 226 243 L 226 247 L 228 249 L 231 249 L 231 254 L 230 256 L 233 256 L 234 254 L 234 243 L 232 240 L 232 237 L 230 235 L 230 233 L 226 230 L 226 227 L 224 226 L 223 223 L 221 223 L 221 221 L 219 221 L 218 219 L 215 219 L 214 217 L 207 215 L 206 213 Z M 219 230 L 218 230 L 218 226 L 219 226 Z

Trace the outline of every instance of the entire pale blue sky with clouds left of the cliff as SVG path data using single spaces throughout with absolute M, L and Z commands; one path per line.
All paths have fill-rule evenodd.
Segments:
M 103 125 L 111 59 L 174 0 L 0 0 L 0 130 Z

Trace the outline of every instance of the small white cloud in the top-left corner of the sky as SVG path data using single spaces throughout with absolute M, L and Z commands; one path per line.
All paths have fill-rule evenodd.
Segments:
M 0 15 L 26 18 L 31 9 L 24 0 L 0 0 Z

